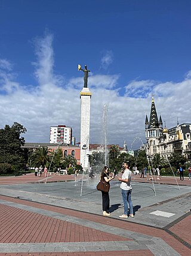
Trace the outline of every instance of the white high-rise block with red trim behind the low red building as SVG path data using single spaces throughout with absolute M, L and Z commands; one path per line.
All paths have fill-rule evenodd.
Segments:
M 72 127 L 66 127 L 66 125 L 51 127 L 50 143 L 72 144 Z

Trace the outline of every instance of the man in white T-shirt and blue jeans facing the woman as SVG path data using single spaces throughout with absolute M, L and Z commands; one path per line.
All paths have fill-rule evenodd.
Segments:
M 122 174 L 122 177 L 119 177 L 118 180 L 121 182 L 121 194 L 124 201 L 124 214 L 119 216 L 119 218 L 128 218 L 128 204 L 130 206 L 130 216 L 133 218 L 133 203 L 131 201 L 131 171 L 129 168 L 129 164 L 127 162 L 124 162 L 124 173 Z

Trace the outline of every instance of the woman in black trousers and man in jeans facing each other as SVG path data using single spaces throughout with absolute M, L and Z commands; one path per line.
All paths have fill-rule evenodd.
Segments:
M 124 162 L 123 164 L 124 171 L 122 173 L 122 177 L 118 177 L 119 182 L 121 182 L 121 194 L 122 200 L 124 201 L 124 214 L 120 215 L 119 218 L 128 218 L 128 205 L 130 207 L 130 216 L 133 218 L 133 203 L 131 201 L 131 171 L 129 168 L 129 164 Z M 105 182 L 109 183 L 111 180 L 115 179 L 115 173 L 109 173 L 109 167 L 104 166 L 101 172 L 101 179 Z M 104 216 L 110 216 L 109 213 L 109 191 L 103 192 L 102 194 L 102 209 Z

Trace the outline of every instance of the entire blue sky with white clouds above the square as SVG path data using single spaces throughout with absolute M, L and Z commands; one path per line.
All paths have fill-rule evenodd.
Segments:
M 48 142 L 66 124 L 79 141 L 78 64 L 91 70 L 92 143 L 104 104 L 109 142 L 129 148 L 144 140 L 152 94 L 168 128 L 190 122 L 190 11 L 187 0 L 1 0 L 1 128 L 20 122 L 27 142 Z

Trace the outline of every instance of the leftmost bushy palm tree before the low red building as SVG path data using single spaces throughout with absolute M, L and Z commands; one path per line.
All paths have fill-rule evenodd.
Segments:
M 41 165 L 42 167 L 48 167 L 50 164 L 50 150 L 48 150 L 48 147 L 39 147 L 34 153 L 32 153 L 30 160 L 34 167 L 39 167 Z

